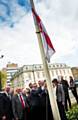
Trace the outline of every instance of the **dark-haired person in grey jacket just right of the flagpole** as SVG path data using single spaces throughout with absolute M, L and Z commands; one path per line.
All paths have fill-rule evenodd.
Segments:
M 60 113 L 61 120 L 67 120 L 64 104 L 65 104 L 65 94 L 62 84 L 59 84 L 57 79 L 53 79 L 53 84 L 56 86 L 56 100 Z

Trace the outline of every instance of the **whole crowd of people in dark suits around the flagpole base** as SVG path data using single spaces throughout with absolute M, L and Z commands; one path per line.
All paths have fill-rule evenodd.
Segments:
M 52 80 L 56 87 L 56 101 L 61 120 L 67 120 L 66 112 L 72 107 L 69 96 L 71 89 L 77 103 L 78 95 L 73 78 L 70 76 L 70 83 L 63 79 Z M 16 89 L 6 86 L 0 92 L 0 120 L 54 120 L 50 106 L 46 81 L 29 83 L 29 87 Z

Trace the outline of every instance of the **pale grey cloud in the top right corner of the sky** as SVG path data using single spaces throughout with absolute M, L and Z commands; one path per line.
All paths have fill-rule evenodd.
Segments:
M 77 0 L 74 0 L 74 1 L 73 0 L 51 0 L 50 2 L 46 2 L 46 1 L 42 0 L 42 2 L 39 4 L 40 10 L 42 8 L 41 7 L 42 4 L 44 4 L 43 6 L 45 6 L 46 15 L 51 21 L 53 22 L 55 21 L 55 23 L 63 24 L 68 27 L 72 27 L 72 26 L 74 27 L 74 25 L 77 24 L 77 27 L 78 27 L 78 23 L 77 23 L 78 1 Z M 41 10 L 42 13 L 43 11 L 44 10 Z

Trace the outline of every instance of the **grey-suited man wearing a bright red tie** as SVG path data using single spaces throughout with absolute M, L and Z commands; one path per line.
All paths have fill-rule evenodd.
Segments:
M 24 120 L 25 101 L 21 89 L 16 89 L 17 94 L 12 97 L 12 109 L 15 120 Z

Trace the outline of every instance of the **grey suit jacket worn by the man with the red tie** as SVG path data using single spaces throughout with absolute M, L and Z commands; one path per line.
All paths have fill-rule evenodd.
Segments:
M 12 97 L 12 109 L 13 109 L 14 118 L 22 119 L 23 107 L 18 94 Z

